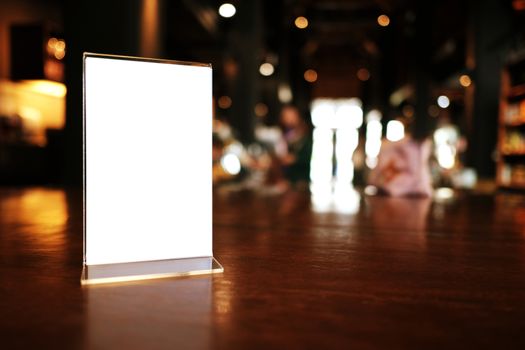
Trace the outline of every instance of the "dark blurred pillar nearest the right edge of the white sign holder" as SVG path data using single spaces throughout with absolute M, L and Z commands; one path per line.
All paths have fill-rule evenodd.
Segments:
M 230 48 L 237 60 L 238 74 L 232 96 L 231 122 L 243 143 L 253 140 L 254 107 L 259 99 L 259 65 L 261 64 L 262 18 L 260 0 L 238 3 L 232 23 Z

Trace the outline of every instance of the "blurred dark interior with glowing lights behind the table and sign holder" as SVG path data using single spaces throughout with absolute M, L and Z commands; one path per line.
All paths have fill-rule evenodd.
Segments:
M 1 185 L 81 184 L 85 51 L 212 63 L 216 188 L 525 189 L 525 0 L 0 0 Z

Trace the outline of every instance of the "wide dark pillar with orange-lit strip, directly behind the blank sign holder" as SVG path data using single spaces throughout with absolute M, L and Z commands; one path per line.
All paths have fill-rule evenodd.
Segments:
M 163 0 L 64 2 L 66 54 L 66 166 L 64 182 L 82 182 L 82 54 L 161 57 Z M 118 135 L 115 135 L 117 138 Z

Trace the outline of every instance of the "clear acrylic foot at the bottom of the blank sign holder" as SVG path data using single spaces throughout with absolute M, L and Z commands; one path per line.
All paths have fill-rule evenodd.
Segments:
M 140 261 L 107 265 L 84 265 L 82 285 L 116 283 L 224 272 L 214 257 Z

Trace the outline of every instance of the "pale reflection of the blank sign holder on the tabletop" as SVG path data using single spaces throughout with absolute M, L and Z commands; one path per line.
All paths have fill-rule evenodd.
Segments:
M 209 347 L 211 276 L 89 286 L 84 293 L 90 348 Z

